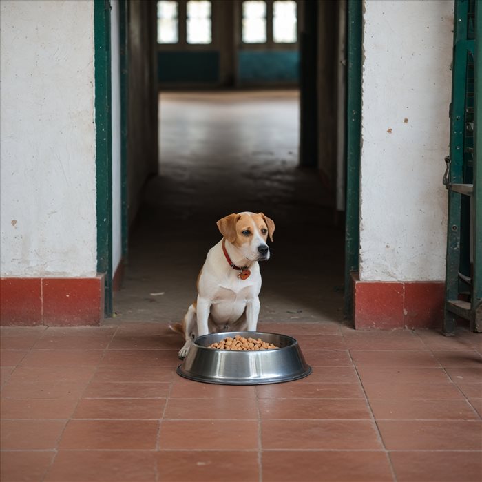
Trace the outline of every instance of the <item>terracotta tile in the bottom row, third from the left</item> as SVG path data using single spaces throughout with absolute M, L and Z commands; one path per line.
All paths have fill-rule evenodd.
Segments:
M 258 452 L 161 450 L 157 454 L 163 482 L 258 481 Z

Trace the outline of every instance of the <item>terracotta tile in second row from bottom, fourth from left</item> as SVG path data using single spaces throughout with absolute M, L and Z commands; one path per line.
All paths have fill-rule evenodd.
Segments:
M 358 420 L 264 420 L 262 448 L 380 450 L 375 424 Z

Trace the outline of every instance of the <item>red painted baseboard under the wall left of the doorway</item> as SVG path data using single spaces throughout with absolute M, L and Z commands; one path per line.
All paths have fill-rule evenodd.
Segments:
M 99 325 L 103 316 L 103 275 L 0 278 L 1 325 Z

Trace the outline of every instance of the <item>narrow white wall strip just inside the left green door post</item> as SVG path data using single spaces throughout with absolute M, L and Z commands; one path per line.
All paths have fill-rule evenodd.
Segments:
M 111 0 L 110 41 L 112 78 L 112 276 L 122 257 L 121 213 L 121 53 L 119 2 Z

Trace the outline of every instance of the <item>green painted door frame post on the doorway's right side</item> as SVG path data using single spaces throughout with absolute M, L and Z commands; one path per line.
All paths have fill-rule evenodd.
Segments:
M 362 8 L 348 0 L 346 69 L 346 222 L 344 315 L 353 314 L 352 273 L 359 269 L 360 156 L 362 151 Z

